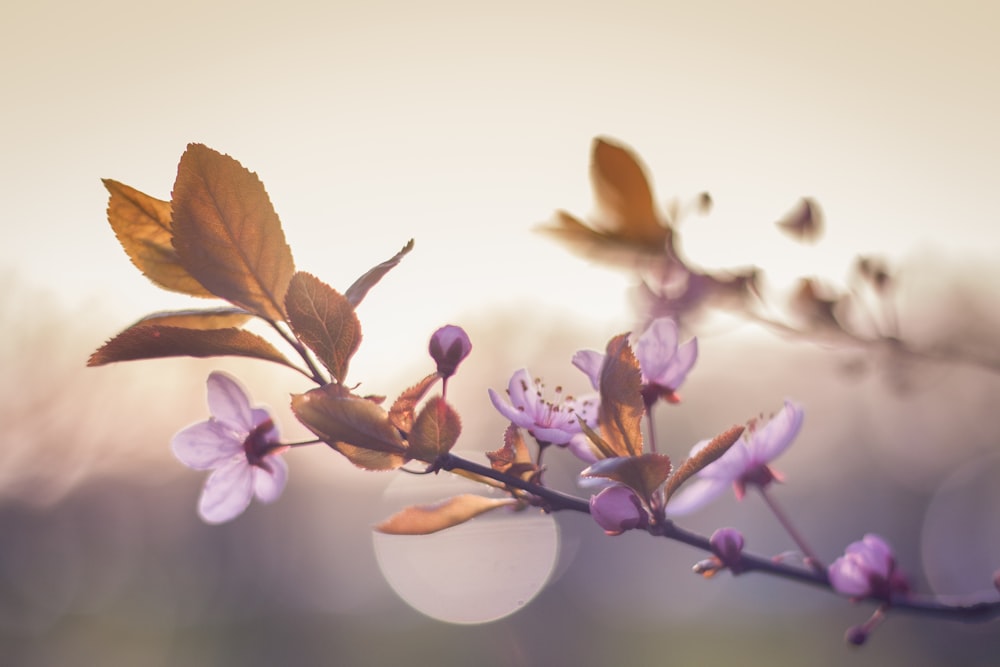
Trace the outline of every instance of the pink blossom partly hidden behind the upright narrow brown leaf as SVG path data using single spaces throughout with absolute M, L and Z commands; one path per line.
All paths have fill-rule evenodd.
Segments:
M 698 359 L 698 339 L 678 345 L 677 322 L 670 317 L 653 320 L 635 341 L 635 357 L 642 372 L 642 394 L 647 405 L 657 398 L 676 402 L 677 389 L 683 384 Z M 600 388 L 604 354 L 581 350 L 573 356 L 573 365 L 587 374 L 594 389 Z

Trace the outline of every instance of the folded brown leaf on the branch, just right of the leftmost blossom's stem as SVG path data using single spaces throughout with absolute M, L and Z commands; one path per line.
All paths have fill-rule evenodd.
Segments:
M 341 385 L 326 385 L 293 395 L 292 411 L 306 428 L 334 449 L 340 450 L 338 443 L 344 443 L 362 450 L 408 457 L 406 444 L 389 422 L 388 413 L 372 401 L 352 395 Z

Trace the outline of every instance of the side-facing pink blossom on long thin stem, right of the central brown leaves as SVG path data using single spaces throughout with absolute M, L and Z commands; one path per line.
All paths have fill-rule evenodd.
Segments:
M 742 499 L 747 485 L 766 487 L 780 479 L 768 465 L 778 458 L 802 427 L 802 408 L 785 401 L 785 406 L 766 424 L 751 422 L 740 440 L 698 472 L 697 478 L 667 504 L 667 514 L 688 514 L 706 504 L 732 485 Z M 694 455 L 710 441 L 703 440 L 691 450 Z

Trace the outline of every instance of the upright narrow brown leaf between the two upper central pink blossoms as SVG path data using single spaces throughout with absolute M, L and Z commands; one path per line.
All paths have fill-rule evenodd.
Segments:
M 639 362 L 628 344 L 628 334 L 619 334 L 610 341 L 601 368 L 599 391 L 601 405 L 597 411 L 604 442 L 615 456 L 642 454 L 642 373 Z

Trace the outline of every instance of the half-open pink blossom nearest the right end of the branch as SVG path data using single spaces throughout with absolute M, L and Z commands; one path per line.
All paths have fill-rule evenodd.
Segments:
M 827 575 L 833 590 L 854 598 L 888 600 L 909 590 L 906 577 L 896 570 L 892 548 L 872 533 L 849 544 L 844 555 L 827 568 Z

